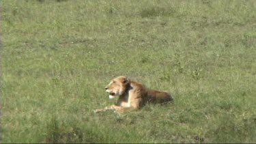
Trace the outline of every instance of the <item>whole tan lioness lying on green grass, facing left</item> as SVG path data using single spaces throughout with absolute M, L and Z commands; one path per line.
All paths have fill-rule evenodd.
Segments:
M 94 112 L 106 111 L 114 109 L 115 112 L 122 113 L 138 109 L 147 102 L 165 103 L 173 100 L 167 91 L 156 91 L 147 89 L 141 83 L 130 81 L 126 76 L 117 76 L 109 85 L 105 87 L 109 93 L 109 98 L 119 96 L 117 103 L 111 106 L 106 106 L 103 109 L 96 109 Z

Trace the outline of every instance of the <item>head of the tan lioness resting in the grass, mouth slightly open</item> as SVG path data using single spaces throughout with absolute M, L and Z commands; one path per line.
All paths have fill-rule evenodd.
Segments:
M 106 92 L 109 93 L 109 98 L 121 96 L 130 85 L 130 80 L 126 76 L 117 76 L 109 85 L 105 87 Z

